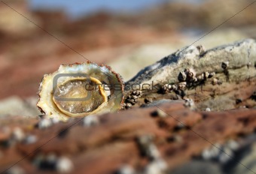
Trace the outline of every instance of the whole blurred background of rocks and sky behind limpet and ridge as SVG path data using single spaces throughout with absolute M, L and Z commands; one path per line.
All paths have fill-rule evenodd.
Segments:
M 251 0 L 9 0 L 0 3 L 0 115 L 38 115 L 38 86 L 61 64 L 111 65 L 131 77 L 194 43 L 256 37 Z M 245 10 L 245 7 L 247 7 Z M 239 11 L 241 11 L 239 13 Z M 82 56 L 81 56 L 82 55 Z

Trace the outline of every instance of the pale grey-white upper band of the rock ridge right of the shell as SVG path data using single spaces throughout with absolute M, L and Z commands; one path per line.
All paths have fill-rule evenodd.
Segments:
M 206 71 L 221 73 L 223 72 L 222 62 L 229 62 L 229 69 L 237 73 L 236 76 L 235 74 L 234 76 L 230 75 L 230 81 L 255 77 L 255 68 L 251 68 L 249 72 L 239 71 L 239 69 L 256 62 L 256 41 L 248 39 L 226 46 L 218 46 L 203 52 L 203 55 L 200 55 L 200 50 L 196 46 L 187 46 L 143 69 L 126 84 L 151 84 L 152 81 L 160 84 L 178 83 L 178 74 L 184 71 L 184 68 L 193 68 L 197 74 Z

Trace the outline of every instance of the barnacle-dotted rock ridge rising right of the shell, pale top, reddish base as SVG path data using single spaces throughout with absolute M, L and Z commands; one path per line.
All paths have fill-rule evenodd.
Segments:
M 137 104 L 139 106 L 145 98 L 151 98 L 153 101 L 163 98 L 174 100 L 178 99 L 179 93 L 181 98 L 193 99 L 200 110 L 255 107 L 256 103 L 251 100 L 251 95 L 256 90 L 255 65 L 256 42 L 252 39 L 218 46 L 206 52 L 203 46 L 188 46 L 140 71 L 126 83 L 126 95 L 130 95 L 131 89 L 139 86 L 143 91 Z M 181 77 L 178 80 L 179 74 L 187 70 L 195 72 L 195 82 L 183 82 L 186 77 L 184 80 Z M 165 95 L 159 94 L 159 89 L 164 84 L 180 88 L 181 83 L 184 83 L 184 89 L 179 92 L 173 90 Z

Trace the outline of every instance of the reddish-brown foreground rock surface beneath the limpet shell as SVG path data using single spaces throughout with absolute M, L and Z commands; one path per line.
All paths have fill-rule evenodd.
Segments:
M 81 119 L 75 119 L 40 130 L 35 127 L 38 118 L 0 118 L 1 127 L 19 126 L 26 134 L 38 137 L 32 144 L 17 142 L 6 147 L 4 142 L 10 135 L 1 130 L 0 171 L 16 163 L 26 173 L 55 173 L 33 164 L 39 154 L 52 153 L 72 160 L 71 173 L 113 173 L 123 164 L 142 170 L 149 160 L 142 156 L 136 139 L 145 135 L 154 137 L 161 157 L 173 169 L 217 142 L 239 139 L 256 128 L 254 109 L 197 112 L 185 108 L 183 102 L 159 108 L 168 114 L 166 118 L 152 116 L 157 107 L 136 108 L 100 115 L 99 124 L 93 127 L 85 127 Z

